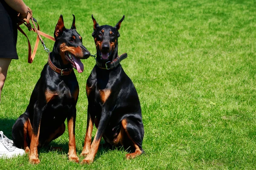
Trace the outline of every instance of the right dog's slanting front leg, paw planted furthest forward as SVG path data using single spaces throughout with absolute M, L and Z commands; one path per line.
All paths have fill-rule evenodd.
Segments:
M 108 125 L 110 115 L 111 114 L 102 113 L 102 116 L 99 121 L 99 126 L 96 131 L 96 135 L 93 139 L 93 143 L 91 144 L 90 152 L 87 155 L 87 157 L 85 159 L 83 159 L 82 163 L 90 164 L 93 162 L 94 157 L 95 157 L 96 153 L 98 152 L 99 143 L 100 143 L 100 140 L 102 139 L 102 135 L 106 129 L 106 126 Z

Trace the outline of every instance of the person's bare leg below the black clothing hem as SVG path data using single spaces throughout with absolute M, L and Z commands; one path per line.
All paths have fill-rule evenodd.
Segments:
M 7 70 L 12 59 L 0 58 L 0 101 L 1 101 L 1 91 L 3 89 L 3 84 L 6 80 Z

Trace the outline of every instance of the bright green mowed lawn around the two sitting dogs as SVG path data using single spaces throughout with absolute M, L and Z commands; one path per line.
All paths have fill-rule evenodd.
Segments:
M 256 169 L 256 1 L 255 0 L 25 0 L 41 30 L 53 35 L 59 15 L 66 28 L 72 14 L 83 44 L 96 53 L 91 14 L 99 25 L 119 30 L 119 54 L 134 82 L 143 113 L 145 154 L 125 160 L 126 151 L 100 147 L 95 161 L 68 161 L 68 132 L 28 156 L 0 159 L 0 169 Z M 23 26 L 23 29 L 26 28 Z M 30 41 L 36 34 L 26 30 Z M 44 38 L 52 50 L 53 42 Z M 39 44 L 27 63 L 26 38 L 19 33 L 19 60 L 13 60 L 0 103 L 0 130 L 10 139 L 12 125 L 26 110 L 47 53 Z M 95 65 L 83 60 L 77 104 L 76 145 L 80 155 L 87 124 L 86 80 Z M 67 123 L 66 123 L 67 125 Z M 96 127 L 93 129 L 93 137 Z M 102 139 L 102 143 L 104 140 Z M 80 160 L 83 158 L 80 157 Z

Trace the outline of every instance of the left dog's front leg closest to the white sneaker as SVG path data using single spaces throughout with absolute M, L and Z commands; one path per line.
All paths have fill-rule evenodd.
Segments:
M 40 160 L 38 159 L 38 144 L 39 144 L 39 132 L 40 132 L 40 124 L 41 118 L 44 111 L 44 107 L 40 107 L 38 102 L 35 103 L 34 108 L 34 118 L 32 125 L 32 137 L 30 142 L 30 151 L 29 151 L 29 162 L 32 164 L 39 164 Z

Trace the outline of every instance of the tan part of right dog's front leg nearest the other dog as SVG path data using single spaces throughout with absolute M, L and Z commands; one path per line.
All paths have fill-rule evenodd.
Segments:
M 81 156 L 86 156 L 90 152 L 91 142 L 92 142 L 92 132 L 93 132 L 93 121 L 90 118 L 88 128 L 86 128 L 86 134 L 84 138 L 84 148 L 82 150 Z

